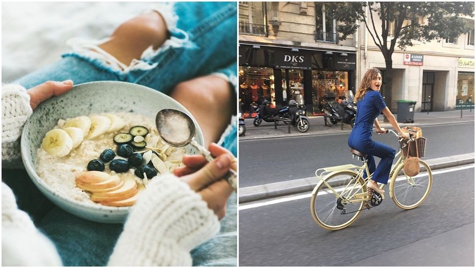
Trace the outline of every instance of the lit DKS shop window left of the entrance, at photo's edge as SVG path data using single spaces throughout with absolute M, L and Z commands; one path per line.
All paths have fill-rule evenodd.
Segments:
M 254 117 L 264 100 L 276 107 L 273 68 L 240 66 L 239 83 L 238 101 L 246 117 Z

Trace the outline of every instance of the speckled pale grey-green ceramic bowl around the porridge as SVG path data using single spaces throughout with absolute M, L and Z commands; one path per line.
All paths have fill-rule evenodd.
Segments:
M 190 115 L 185 107 L 169 96 L 146 86 L 117 81 L 98 81 L 76 85 L 66 94 L 53 97 L 39 105 L 26 121 L 21 138 L 21 152 L 26 171 L 33 183 L 58 207 L 81 218 L 105 222 L 124 222 L 130 207 L 109 207 L 86 204 L 74 200 L 51 188 L 36 174 L 35 161 L 45 134 L 53 129 L 60 118 L 72 118 L 103 112 L 136 112 L 152 118 L 164 108 L 174 108 Z M 195 139 L 203 145 L 202 132 L 197 129 Z M 185 151 L 194 154 L 187 145 Z

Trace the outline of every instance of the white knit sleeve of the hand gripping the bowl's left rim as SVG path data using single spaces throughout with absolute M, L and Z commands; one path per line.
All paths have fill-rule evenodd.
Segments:
M 20 136 L 33 110 L 26 89 L 17 84 L 1 88 L 1 163 L 2 167 L 22 166 Z

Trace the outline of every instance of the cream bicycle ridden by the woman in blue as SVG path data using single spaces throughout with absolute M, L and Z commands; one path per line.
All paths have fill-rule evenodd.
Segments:
M 398 134 L 392 130 L 397 137 Z M 411 135 L 410 140 L 413 139 Z M 399 137 L 399 141 L 402 138 Z M 395 158 L 397 163 L 392 168 L 389 179 L 389 195 L 397 207 L 410 210 L 423 203 L 431 189 L 432 175 L 427 163 L 420 160 L 420 173 L 414 177 L 407 176 L 403 172 L 405 158 L 402 156 L 402 148 L 397 152 Z M 362 162 L 362 166 L 346 164 L 319 168 L 316 176 L 319 179 L 313 190 L 311 197 L 311 214 L 317 225 L 327 230 L 343 229 L 362 213 L 363 210 L 380 205 L 385 199 L 384 194 L 378 194 L 372 189 L 367 189 L 367 182 L 372 177 L 367 165 L 366 155 L 350 150 Z M 364 172 L 367 178 L 364 179 Z M 379 188 L 383 189 L 384 184 Z

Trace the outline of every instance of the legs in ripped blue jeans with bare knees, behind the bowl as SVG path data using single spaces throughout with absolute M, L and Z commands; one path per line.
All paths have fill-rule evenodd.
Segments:
M 21 86 L 21 92 L 24 92 L 25 88 L 35 88 L 46 80 L 65 81 L 66 84 L 72 82 L 70 80 L 73 80 L 75 84 L 116 80 L 145 85 L 170 95 L 190 111 L 203 132 L 206 147 L 211 150 L 212 148 L 222 150 L 223 148 L 220 147 L 222 146 L 236 157 L 237 122 L 233 114 L 236 112 L 237 56 L 236 50 L 232 49 L 236 48 L 237 44 L 236 17 L 236 2 L 158 3 L 154 10 L 145 12 L 117 27 L 106 39 L 70 40 L 69 44 L 73 48 L 71 53 L 63 54 L 62 58 L 53 64 L 11 83 Z M 61 82 L 48 84 L 54 86 Z M 2 86 L 2 94 L 6 88 Z M 26 90 L 28 91 L 30 90 Z M 32 99 L 34 100 L 35 97 L 33 96 Z M 32 108 L 34 108 L 33 104 Z M 24 119 L 26 120 L 26 116 Z M 6 122 L 7 120 L 2 120 L 2 131 L 5 129 L 3 124 Z M 21 132 L 17 134 L 15 138 L 18 138 Z M 15 147 L 19 144 L 18 139 L 7 145 L 7 147 L 13 145 L 8 147 L 12 149 L 9 151 L 3 148 L 4 141 L 6 140 L 2 135 L 2 162 L 6 160 L 4 153 L 13 152 L 17 156 L 17 162 L 21 164 L 21 159 L 18 159 L 19 152 L 15 151 L 18 149 Z M 220 146 L 214 145 L 214 142 Z M 3 165 L 3 168 L 5 167 L 6 165 Z M 62 265 L 105 266 L 108 263 L 111 264 L 109 259 L 111 253 L 114 252 L 113 256 L 118 256 L 116 252 L 121 252 L 116 251 L 117 245 L 126 244 L 129 241 L 123 240 L 122 237 L 126 236 L 128 226 L 131 225 L 92 222 L 62 211 L 38 191 L 24 169 L 3 169 L 2 182 L 4 183 L 2 188 L 5 189 L 2 190 L 2 199 L 4 192 L 11 193 L 9 196 L 11 202 L 2 200 L 2 205 L 10 204 L 11 208 L 17 212 L 20 211 L 17 209 L 18 204 L 18 207 L 24 211 L 22 218 L 28 220 L 31 218 L 33 221 L 27 225 L 38 228 L 50 241 L 53 241 L 61 257 Z M 182 253 L 188 254 L 188 257 L 173 264 L 179 266 L 237 265 L 236 193 L 230 192 L 230 194 L 229 202 L 225 203 L 227 216 L 220 222 L 219 235 L 212 238 L 206 235 L 199 240 L 193 239 L 193 243 L 187 242 L 186 250 Z M 222 193 L 217 197 L 230 196 L 230 194 Z M 3 212 L 7 211 L 2 207 L 2 227 L 6 222 Z M 223 215 L 223 211 L 220 215 Z M 214 225 L 215 223 L 212 222 L 214 227 L 217 226 Z M 2 239 L 4 237 L 2 236 Z M 158 241 L 154 236 L 150 239 Z M 204 243 L 198 246 L 200 242 Z M 145 244 L 149 243 L 143 243 Z M 7 248 L 9 247 L 2 246 L 2 253 Z M 143 253 L 149 252 L 148 248 L 143 250 Z M 42 255 L 40 252 L 38 254 Z M 2 254 L 2 264 L 6 260 L 5 256 Z M 27 259 L 32 258 L 25 260 Z M 140 263 L 144 259 L 136 261 L 138 262 L 135 265 L 145 265 Z M 153 261 L 148 265 L 172 265 L 172 263 L 155 262 L 163 261 L 159 259 Z M 57 262 L 55 264 L 58 265 Z

